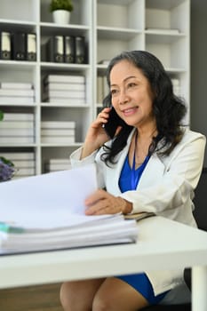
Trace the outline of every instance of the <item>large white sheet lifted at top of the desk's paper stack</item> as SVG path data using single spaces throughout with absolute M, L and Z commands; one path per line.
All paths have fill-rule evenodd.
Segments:
M 21 227 L 72 225 L 78 221 L 72 215 L 84 215 L 84 200 L 96 189 L 94 164 L 2 182 L 0 222 Z

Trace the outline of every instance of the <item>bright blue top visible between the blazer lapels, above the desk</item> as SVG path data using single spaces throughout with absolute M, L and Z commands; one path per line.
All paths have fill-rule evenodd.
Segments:
M 119 178 L 119 187 L 122 192 L 128 190 L 135 190 L 138 186 L 139 179 L 144 171 L 150 156 L 146 156 L 145 161 L 139 166 L 137 170 L 131 169 L 128 156 L 126 156 L 123 163 L 123 169 Z

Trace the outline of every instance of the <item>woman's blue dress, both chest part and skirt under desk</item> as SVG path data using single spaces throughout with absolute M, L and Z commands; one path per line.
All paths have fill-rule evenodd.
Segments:
M 147 165 L 148 160 L 149 156 L 146 157 L 145 161 L 139 166 L 138 169 L 135 169 L 135 163 L 133 163 L 133 167 L 131 169 L 128 156 L 126 157 L 119 178 L 119 187 L 122 192 L 135 190 L 137 188 L 139 179 Z M 130 284 L 131 287 L 133 287 L 136 291 L 139 291 L 139 293 L 144 296 L 144 298 L 147 299 L 151 305 L 158 304 L 168 292 L 165 291 L 162 294 L 155 296 L 152 284 L 145 273 L 135 275 L 116 275 L 115 277 Z

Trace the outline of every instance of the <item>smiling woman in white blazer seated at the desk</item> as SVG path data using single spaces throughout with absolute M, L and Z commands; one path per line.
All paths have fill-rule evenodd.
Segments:
M 123 123 L 110 140 L 103 124 L 112 108 L 103 108 L 71 156 L 73 165 L 97 165 L 100 189 L 86 199 L 85 214 L 153 211 L 196 226 L 192 199 L 205 138 L 181 126 L 186 108 L 163 65 L 149 52 L 123 52 L 111 60 L 107 82 Z M 137 311 L 182 302 L 184 291 L 181 270 L 146 271 L 63 283 L 60 300 L 65 311 Z

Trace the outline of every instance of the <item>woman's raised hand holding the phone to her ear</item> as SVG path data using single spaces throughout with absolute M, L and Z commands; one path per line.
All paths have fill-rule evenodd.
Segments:
M 110 110 L 111 108 L 103 108 L 90 125 L 84 140 L 82 158 L 90 156 L 93 151 L 99 149 L 107 140 L 110 140 L 103 128 L 103 124 L 107 124 Z

